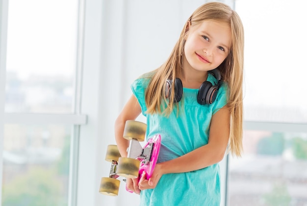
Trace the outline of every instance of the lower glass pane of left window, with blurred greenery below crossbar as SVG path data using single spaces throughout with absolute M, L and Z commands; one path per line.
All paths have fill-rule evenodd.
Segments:
M 67 206 L 71 127 L 4 126 L 2 206 Z

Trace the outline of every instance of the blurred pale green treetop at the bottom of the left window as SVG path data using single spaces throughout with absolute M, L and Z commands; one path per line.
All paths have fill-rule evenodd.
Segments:
M 3 185 L 2 206 L 65 206 L 62 183 L 50 169 L 34 167 Z

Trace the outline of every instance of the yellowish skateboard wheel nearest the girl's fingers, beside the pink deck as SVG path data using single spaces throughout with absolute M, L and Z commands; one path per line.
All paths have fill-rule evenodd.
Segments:
M 137 178 L 139 176 L 140 160 L 132 158 L 119 158 L 116 174 L 126 178 Z

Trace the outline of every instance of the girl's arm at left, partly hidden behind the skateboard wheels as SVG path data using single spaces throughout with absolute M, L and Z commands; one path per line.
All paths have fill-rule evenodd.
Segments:
M 127 148 L 129 147 L 129 140 L 123 138 L 126 121 L 136 119 L 141 112 L 141 106 L 132 94 L 115 120 L 115 140 L 122 157 L 127 157 Z

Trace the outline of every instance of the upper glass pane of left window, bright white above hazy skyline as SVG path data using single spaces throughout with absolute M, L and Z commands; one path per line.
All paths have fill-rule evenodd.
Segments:
M 71 113 L 77 0 L 9 0 L 5 112 Z

